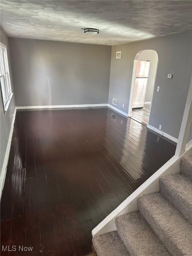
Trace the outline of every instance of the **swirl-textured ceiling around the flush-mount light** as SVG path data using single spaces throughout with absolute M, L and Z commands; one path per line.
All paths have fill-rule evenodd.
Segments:
M 5 1 L 8 36 L 115 45 L 192 32 L 192 1 Z M 82 28 L 100 30 L 87 35 Z

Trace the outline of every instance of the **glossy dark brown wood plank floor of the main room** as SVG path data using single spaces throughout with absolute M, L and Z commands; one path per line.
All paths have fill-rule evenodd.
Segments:
M 91 253 L 91 230 L 175 148 L 107 108 L 17 112 L 1 199 L 1 248 L 32 246 L 26 254 L 35 256 Z

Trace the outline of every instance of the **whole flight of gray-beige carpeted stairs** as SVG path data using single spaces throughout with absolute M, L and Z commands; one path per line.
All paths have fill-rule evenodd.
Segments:
M 160 178 L 160 192 L 139 197 L 139 211 L 118 216 L 117 231 L 93 238 L 98 256 L 192 256 L 192 156 L 180 171 Z

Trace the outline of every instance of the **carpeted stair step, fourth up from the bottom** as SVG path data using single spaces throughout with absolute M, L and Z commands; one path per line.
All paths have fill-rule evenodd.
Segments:
M 162 176 L 160 193 L 192 223 L 192 181 L 182 174 Z

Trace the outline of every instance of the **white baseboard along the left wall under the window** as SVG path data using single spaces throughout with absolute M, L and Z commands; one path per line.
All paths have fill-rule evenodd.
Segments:
M 12 135 L 13 135 L 15 116 L 16 116 L 16 107 L 15 107 L 14 114 L 13 114 L 13 120 L 12 120 L 11 129 L 10 129 L 10 133 L 9 133 L 9 139 L 8 139 L 8 142 L 7 142 L 7 148 L 6 148 L 6 152 L 5 152 L 5 156 L 4 156 L 3 166 L 2 166 L 2 169 L 1 169 L 0 198 L 1 198 L 1 195 L 2 195 L 2 191 L 3 191 L 3 186 L 4 186 L 4 183 L 5 183 L 5 175 L 6 175 L 7 164 L 8 164 L 8 160 L 9 160 L 9 153 L 10 153 L 10 148 L 11 148 L 11 140 L 12 140 Z

